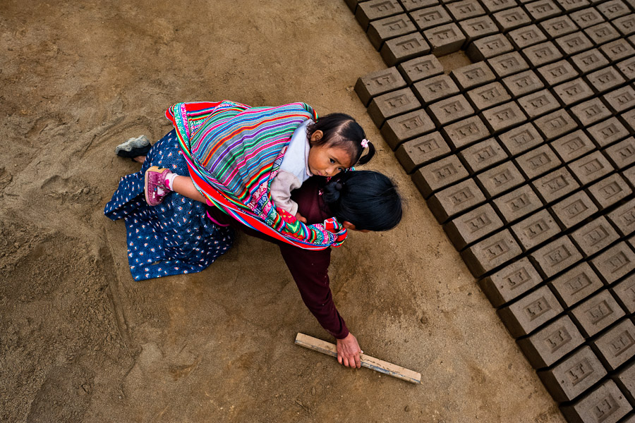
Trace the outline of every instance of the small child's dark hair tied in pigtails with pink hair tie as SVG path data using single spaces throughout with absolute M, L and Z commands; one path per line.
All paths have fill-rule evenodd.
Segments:
M 316 130 L 321 130 L 324 135 L 320 140 L 311 143 L 311 147 L 325 145 L 344 149 L 351 156 L 351 166 L 367 164 L 375 156 L 375 146 L 371 142 L 368 142 L 368 153 L 361 155 L 364 151 L 362 140 L 366 139 L 366 134 L 359 123 L 347 114 L 332 113 L 320 116 L 315 123 L 310 123 L 307 127 L 309 139 Z

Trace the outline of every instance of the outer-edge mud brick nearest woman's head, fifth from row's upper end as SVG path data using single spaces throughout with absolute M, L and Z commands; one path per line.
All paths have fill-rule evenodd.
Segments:
M 449 156 L 423 166 L 412 175 L 412 180 L 424 198 L 469 176 L 456 156 Z

